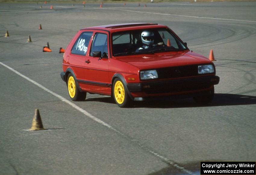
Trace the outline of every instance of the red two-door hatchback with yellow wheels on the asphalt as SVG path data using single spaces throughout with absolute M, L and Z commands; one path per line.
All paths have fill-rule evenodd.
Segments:
M 63 55 L 61 78 L 73 101 L 112 96 L 120 107 L 150 97 L 187 96 L 209 103 L 220 78 L 206 57 L 167 26 L 130 23 L 81 29 Z

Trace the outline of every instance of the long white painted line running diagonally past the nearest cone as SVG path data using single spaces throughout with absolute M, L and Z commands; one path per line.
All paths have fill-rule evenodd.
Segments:
M 33 83 L 33 84 L 35 84 L 36 86 L 40 87 L 41 89 L 45 90 L 46 92 L 48 92 L 48 93 L 52 94 L 53 96 L 59 98 L 61 101 L 63 101 L 63 102 L 65 102 L 65 103 L 69 104 L 70 106 L 72 106 L 72 107 L 75 108 L 76 110 L 82 112 L 84 115 L 86 115 L 87 117 L 91 118 L 92 120 L 94 120 L 94 121 L 96 121 L 96 122 L 98 122 L 98 123 L 100 123 L 100 124 L 102 124 L 102 125 L 108 127 L 109 129 L 115 131 L 117 134 L 121 135 L 122 137 L 126 138 L 127 140 L 130 140 L 131 142 L 136 143 L 139 147 L 141 147 L 142 149 L 144 149 L 144 150 L 150 152 L 152 155 L 155 155 L 156 157 L 162 159 L 164 162 L 166 162 L 166 163 L 172 165 L 173 167 L 176 167 L 176 168 L 179 169 L 179 170 L 182 170 L 184 173 L 193 174 L 191 171 L 186 170 L 184 167 L 179 166 L 178 164 L 176 164 L 175 162 L 169 160 L 168 158 L 165 158 L 164 156 L 162 156 L 162 155 L 160 155 L 160 154 L 158 154 L 158 153 L 156 153 L 156 152 L 150 150 L 150 149 L 147 148 L 146 146 L 144 146 L 144 145 L 142 145 L 141 143 L 139 143 L 137 140 L 131 139 L 130 137 L 126 136 L 125 134 L 123 134 L 123 133 L 120 132 L 119 130 L 117 130 L 117 129 L 115 129 L 114 127 L 112 127 L 111 125 L 105 123 L 105 122 L 102 121 L 101 119 L 98 119 L 97 117 L 93 116 L 92 114 L 90 114 L 90 113 L 87 112 L 86 110 L 80 108 L 80 107 L 77 106 L 76 104 L 74 104 L 74 103 L 72 103 L 71 101 L 69 101 L 69 100 L 65 99 L 64 97 L 60 96 L 59 94 L 56 94 L 55 92 L 53 92 L 53 91 L 47 89 L 47 88 L 44 87 L 43 85 L 41 85 L 41 84 L 37 83 L 36 81 L 34 81 L 34 80 L 28 78 L 27 76 L 21 74 L 21 73 L 18 72 L 17 70 L 15 70 L 15 69 L 13 69 L 13 68 L 7 66 L 6 64 L 4 64 L 4 63 L 2 63 L 2 62 L 0 62 L 0 64 L 2 64 L 2 66 L 5 66 L 7 69 L 11 70 L 12 72 L 14 72 L 14 73 L 20 75 L 22 78 L 26 79 L 27 81 L 30 81 L 31 83 Z

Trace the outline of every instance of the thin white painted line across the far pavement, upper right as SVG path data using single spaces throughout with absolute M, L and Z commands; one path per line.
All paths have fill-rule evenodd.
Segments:
M 233 20 L 233 19 L 225 19 L 225 18 L 196 17 L 196 16 L 187 16 L 187 15 L 176 15 L 176 14 L 164 14 L 164 13 L 143 12 L 143 11 L 133 11 L 133 10 L 122 10 L 122 9 L 114 9 L 114 8 L 97 8 L 97 9 L 119 10 L 119 11 L 137 12 L 137 13 L 146 13 L 146 14 L 157 14 L 157 15 L 168 15 L 168 16 L 178 16 L 178 17 L 203 18 L 203 19 L 212 19 L 212 20 L 256 22 L 256 21 L 250 21 L 250 20 Z

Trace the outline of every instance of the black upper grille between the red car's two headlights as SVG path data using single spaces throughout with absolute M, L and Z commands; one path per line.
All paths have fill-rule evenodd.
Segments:
M 198 75 L 198 65 L 176 66 L 157 69 L 158 78 L 179 78 Z

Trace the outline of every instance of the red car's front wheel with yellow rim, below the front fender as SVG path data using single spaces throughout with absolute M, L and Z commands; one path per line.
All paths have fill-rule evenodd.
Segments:
M 115 102 L 120 108 L 131 106 L 132 100 L 120 78 L 114 79 L 112 93 Z

